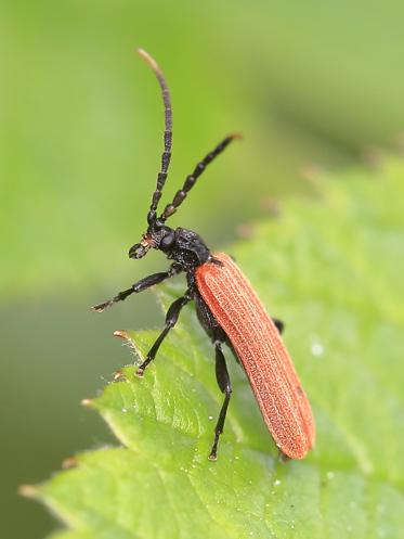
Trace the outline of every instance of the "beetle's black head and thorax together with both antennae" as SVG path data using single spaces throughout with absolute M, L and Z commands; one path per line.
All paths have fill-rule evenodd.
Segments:
M 152 196 L 152 204 L 147 214 L 147 232 L 142 236 L 140 243 L 134 244 L 129 249 L 130 258 L 142 258 L 147 254 L 151 248 L 162 251 L 168 258 L 182 262 L 187 258 L 195 258 L 199 264 L 206 261 L 209 252 L 205 243 L 195 232 L 185 229 L 171 229 L 165 224 L 166 220 L 177 211 L 177 208 L 182 204 L 188 191 L 194 187 L 198 177 L 203 174 L 206 166 L 220 154 L 226 145 L 238 134 L 231 134 L 226 137 L 212 152 L 210 152 L 198 165 L 192 175 L 186 177 L 186 180 L 179 191 L 177 191 L 172 202 L 167 204 L 162 214 L 157 217 L 157 206 L 161 198 L 162 188 L 167 180 L 168 168 L 171 158 L 171 143 L 172 143 L 172 111 L 170 92 L 167 87 L 166 79 L 161 69 L 158 67 L 155 60 L 144 50 L 139 49 L 139 54 L 152 67 L 157 80 L 160 85 L 162 101 L 165 105 L 165 133 L 164 133 L 164 152 L 161 155 L 161 168 L 157 176 L 157 187 Z M 181 249 L 184 253 L 181 253 Z M 186 252 L 186 253 L 185 253 Z M 206 255 L 208 253 L 208 255 Z

